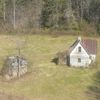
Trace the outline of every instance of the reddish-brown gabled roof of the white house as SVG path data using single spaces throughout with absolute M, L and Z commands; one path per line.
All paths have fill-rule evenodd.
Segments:
M 97 53 L 97 41 L 93 39 L 77 39 L 69 48 L 69 54 L 73 51 L 73 49 L 80 43 L 82 47 L 86 50 L 88 54 L 96 54 Z

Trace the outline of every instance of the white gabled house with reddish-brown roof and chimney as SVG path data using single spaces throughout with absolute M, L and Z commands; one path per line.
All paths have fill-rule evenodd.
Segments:
M 74 67 L 88 67 L 95 62 L 96 54 L 96 40 L 78 37 L 68 49 L 67 64 Z

